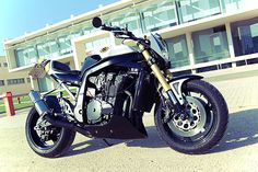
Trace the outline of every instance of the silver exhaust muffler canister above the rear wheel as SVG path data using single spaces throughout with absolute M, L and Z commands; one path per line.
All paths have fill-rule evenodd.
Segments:
M 40 98 L 40 94 L 34 90 L 28 93 L 30 99 L 35 104 L 37 113 L 42 116 L 51 113 L 46 102 Z

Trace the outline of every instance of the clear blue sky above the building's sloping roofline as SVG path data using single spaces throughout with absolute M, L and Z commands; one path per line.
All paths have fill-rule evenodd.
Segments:
M 3 39 L 45 27 L 119 0 L 0 0 L 0 56 Z

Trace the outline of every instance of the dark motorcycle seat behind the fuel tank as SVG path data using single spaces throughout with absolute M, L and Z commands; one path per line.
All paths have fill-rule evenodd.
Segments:
M 71 85 L 80 85 L 81 82 L 81 71 L 71 70 L 67 64 L 62 64 L 56 60 L 50 61 L 51 74 L 64 83 L 70 83 Z

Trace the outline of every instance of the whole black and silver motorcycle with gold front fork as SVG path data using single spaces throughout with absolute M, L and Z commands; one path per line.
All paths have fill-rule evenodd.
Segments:
M 44 95 L 30 92 L 35 105 L 25 130 L 36 153 L 61 156 L 77 131 L 104 141 L 146 138 L 142 117 L 154 104 L 157 133 L 173 149 L 204 153 L 220 141 L 228 119 L 225 100 L 202 77 L 173 77 L 167 47 L 159 34 L 139 38 L 127 28 L 106 26 L 99 18 L 93 19 L 93 25 L 116 38 L 136 42 L 138 49 L 126 45 L 106 47 L 106 58 L 91 55 L 80 71 L 56 60 L 36 65 L 32 74 L 35 69 L 44 69 L 71 98 L 62 92 L 54 95 L 57 89 Z M 77 91 L 69 90 L 71 87 Z

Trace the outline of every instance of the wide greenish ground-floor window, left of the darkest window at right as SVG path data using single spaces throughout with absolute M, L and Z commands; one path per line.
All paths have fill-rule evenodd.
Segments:
M 230 57 L 224 25 L 194 32 L 192 42 L 196 64 Z

